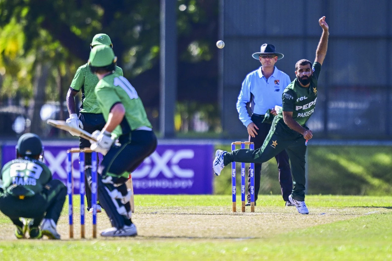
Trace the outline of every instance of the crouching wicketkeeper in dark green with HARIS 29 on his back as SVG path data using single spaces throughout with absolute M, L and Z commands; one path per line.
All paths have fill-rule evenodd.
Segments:
M 16 159 L 5 164 L 0 173 L 0 210 L 16 226 L 19 239 L 25 238 L 27 230 L 30 238 L 46 235 L 60 239 L 56 224 L 67 188 L 60 180 L 52 179 L 52 173 L 40 161 L 43 152 L 36 134 L 23 134 L 16 145 Z M 25 218 L 31 221 L 27 224 Z

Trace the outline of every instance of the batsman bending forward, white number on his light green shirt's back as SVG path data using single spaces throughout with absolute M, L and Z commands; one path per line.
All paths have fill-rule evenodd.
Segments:
M 129 202 L 132 192 L 127 191 L 125 181 L 154 152 L 157 140 L 138 93 L 127 79 L 114 72 L 116 60 L 107 45 L 91 50 L 90 69 L 100 80 L 95 94 L 106 120 L 101 131 L 93 132 L 97 142 L 91 144 L 91 149 L 104 155 L 98 169 L 98 199 L 112 224 L 101 236 L 136 236 Z M 116 139 L 120 146 L 113 145 Z

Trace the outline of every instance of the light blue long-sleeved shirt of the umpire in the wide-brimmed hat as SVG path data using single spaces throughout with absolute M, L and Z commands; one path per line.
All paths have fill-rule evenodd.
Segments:
M 275 105 L 282 106 L 283 90 L 290 84 L 290 77 L 274 66 L 274 73 L 265 78 L 261 72 L 261 67 L 256 71 L 250 72 L 242 82 L 242 88 L 237 101 L 237 111 L 243 125 L 248 127 L 250 116 L 247 111 L 247 103 L 251 102 L 250 107 L 253 113 L 264 115 L 268 109 Z

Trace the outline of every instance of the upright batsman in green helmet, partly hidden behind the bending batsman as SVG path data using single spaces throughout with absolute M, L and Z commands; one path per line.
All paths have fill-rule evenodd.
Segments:
M 112 41 L 107 34 L 96 34 L 93 41 L 90 44 L 90 48 L 93 49 L 96 45 L 109 45 L 113 49 Z M 116 66 L 114 70 L 116 74 L 123 76 L 123 71 L 120 67 Z M 93 133 L 96 130 L 102 130 L 105 126 L 105 119 L 102 115 L 102 110 L 98 105 L 94 88 L 98 83 L 98 77 L 93 74 L 89 65 L 86 63 L 78 68 L 75 76 L 72 80 L 71 86 L 67 93 L 67 107 L 69 112 L 69 118 L 67 124 L 71 127 L 86 130 L 89 133 Z M 75 96 L 82 90 L 82 106 L 80 107 L 80 114 L 76 113 Z M 70 132 L 73 136 L 77 136 L 73 132 Z M 79 138 L 79 148 L 90 147 L 90 141 L 83 138 Z M 91 154 L 86 154 L 85 158 L 86 171 L 91 170 Z M 86 175 L 87 177 L 87 175 Z M 86 180 L 87 182 L 87 180 Z M 87 198 L 87 210 L 92 211 L 91 208 L 91 190 L 89 186 L 86 186 L 86 198 Z M 97 212 L 101 212 L 101 206 L 97 206 Z

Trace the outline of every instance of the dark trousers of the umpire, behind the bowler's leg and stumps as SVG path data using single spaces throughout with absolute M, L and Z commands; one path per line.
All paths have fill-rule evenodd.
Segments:
M 262 123 L 264 116 L 257 116 L 255 114 L 251 117 L 252 121 L 259 128 L 256 130 L 257 135 L 253 138 L 249 135 L 249 141 L 254 143 L 254 149 L 260 149 L 264 143 L 265 138 L 271 129 L 271 124 Z M 279 170 L 279 183 L 281 193 L 284 201 L 289 200 L 289 196 L 293 189 L 293 181 L 291 176 L 289 156 L 286 150 L 282 150 L 278 155 L 275 156 L 276 163 L 278 163 Z M 261 163 L 254 163 L 254 201 L 257 200 L 260 190 L 260 179 L 261 179 Z M 250 167 L 248 172 L 248 202 L 250 202 Z

